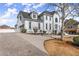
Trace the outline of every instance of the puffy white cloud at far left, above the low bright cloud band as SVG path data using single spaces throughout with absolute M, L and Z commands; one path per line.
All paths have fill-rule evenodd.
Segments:
M 8 8 L 8 10 L 2 15 L 0 18 L 9 18 L 12 15 L 16 15 L 17 9 L 16 8 Z

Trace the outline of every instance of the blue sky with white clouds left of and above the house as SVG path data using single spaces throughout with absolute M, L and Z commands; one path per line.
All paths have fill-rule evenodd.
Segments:
M 0 3 L 0 25 L 6 24 L 14 27 L 19 11 L 30 12 L 35 10 L 40 14 L 45 10 L 53 11 L 55 9 L 54 6 L 49 7 L 46 3 Z

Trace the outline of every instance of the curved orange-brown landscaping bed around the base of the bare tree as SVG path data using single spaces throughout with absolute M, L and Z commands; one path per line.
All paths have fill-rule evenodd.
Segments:
M 66 39 L 69 39 L 69 41 L 66 41 Z M 69 37 L 63 41 L 57 39 L 46 40 L 44 41 L 44 47 L 50 56 L 79 56 L 79 48 L 72 43 Z

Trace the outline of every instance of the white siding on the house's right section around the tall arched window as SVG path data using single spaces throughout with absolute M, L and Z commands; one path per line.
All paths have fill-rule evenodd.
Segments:
M 61 31 L 61 20 L 57 13 L 55 13 L 53 16 L 45 14 L 43 15 L 43 17 L 44 17 L 43 19 L 44 20 L 43 22 L 44 31 L 46 31 L 47 33 L 52 33 L 54 30 L 57 30 L 57 34 Z M 58 22 L 55 22 L 55 18 L 58 19 Z M 47 29 L 46 29 L 46 24 L 47 24 Z M 50 30 L 50 24 L 51 24 L 51 30 Z M 57 29 L 55 28 L 56 24 L 57 24 Z

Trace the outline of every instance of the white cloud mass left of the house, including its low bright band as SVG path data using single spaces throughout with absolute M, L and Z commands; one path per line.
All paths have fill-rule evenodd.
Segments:
M 8 8 L 7 11 L 0 17 L 0 25 L 2 24 L 13 24 L 16 22 L 16 19 L 13 18 L 17 14 L 16 8 Z M 13 18 L 13 19 L 12 19 Z M 13 25 L 12 25 L 13 26 Z

